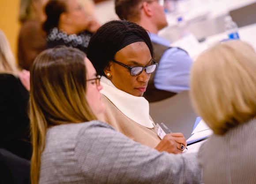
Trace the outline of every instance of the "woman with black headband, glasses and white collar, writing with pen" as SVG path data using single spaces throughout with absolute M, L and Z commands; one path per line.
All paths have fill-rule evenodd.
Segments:
M 92 36 L 87 54 L 102 75 L 106 111 L 100 119 L 136 142 L 158 151 L 182 153 L 187 145 L 183 134 L 168 134 L 161 140 L 143 98 L 158 65 L 147 31 L 128 21 L 110 21 Z

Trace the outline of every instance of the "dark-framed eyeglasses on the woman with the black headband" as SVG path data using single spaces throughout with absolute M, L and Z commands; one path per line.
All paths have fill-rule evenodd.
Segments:
M 118 61 L 116 61 L 116 60 L 112 60 L 112 61 L 113 61 L 114 63 L 117 63 L 117 64 L 119 64 L 119 65 L 125 67 L 125 68 L 128 68 L 128 69 L 130 70 L 130 74 L 131 74 L 132 76 L 136 76 L 136 75 L 141 74 L 142 71 L 143 71 L 143 69 L 145 69 L 145 71 L 146 71 L 147 74 L 151 74 L 151 73 L 153 73 L 153 72 L 155 71 L 155 69 L 156 69 L 157 66 L 158 66 L 158 63 L 155 62 L 154 60 L 152 60 L 152 63 L 153 63 L 153 64 L 148 65 L 148 66 L 146 66 L 146 67 L 129 67 L 129 66 L 127 66 L 127 65 L 125 65 L 125 64 L 123 64 L 123 63 L 120 63 L 120 62 L 118 62 Z

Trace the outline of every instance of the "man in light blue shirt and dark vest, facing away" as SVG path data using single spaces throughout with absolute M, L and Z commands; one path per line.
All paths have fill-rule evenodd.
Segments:
M 120 19 L 142 26 L 150 33 L 158 68 L 151 75 L 145 98 L 159 101 L 184 90 L 189 90 L 189 74 L 192 59 L 183 49 L 170 47 L 170 42 L 158 31 L 167 26 L 161 0 L 115 0 L 115 10 Z M 163 0 L 162 0 L 163 1 Z M 152 92 L 153 91 L 153 92 Z

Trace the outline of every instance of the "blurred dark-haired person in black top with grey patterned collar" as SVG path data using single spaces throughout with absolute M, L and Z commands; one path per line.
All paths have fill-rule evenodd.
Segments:
M 82 0 L 49 0 L 43 24 L 47 48 L 66 45 L 86 53 L 91 35 L 100 27 L 86 8 Z

